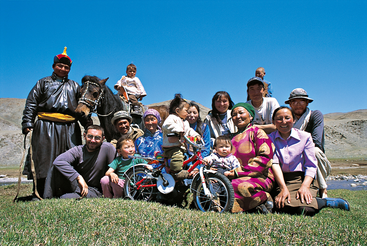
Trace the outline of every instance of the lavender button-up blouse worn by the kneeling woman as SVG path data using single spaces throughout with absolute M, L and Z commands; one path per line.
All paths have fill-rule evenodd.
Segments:
M 287 140 L 278 131 L 269 134 L 269 138 L 275 145 L 273 163 L 280 164 L 283 173 L 302 171 L 315 178 L 317 160 L 311 134 L 292 128 Z

